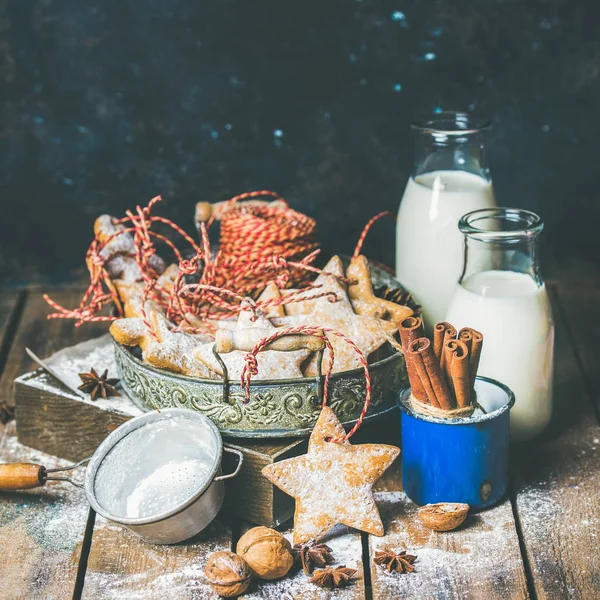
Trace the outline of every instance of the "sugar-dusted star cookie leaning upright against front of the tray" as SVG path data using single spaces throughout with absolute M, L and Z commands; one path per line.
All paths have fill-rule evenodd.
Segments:
M 338 523 L 374 535 L 384 533 L 372 488 L 400 450 L 386 444 L 326 441 L 343 435 L 335 413 L 324 407 L 308 453 L 262 470 L 269 481 L 296 499 L 294 544 L 318 539 Z

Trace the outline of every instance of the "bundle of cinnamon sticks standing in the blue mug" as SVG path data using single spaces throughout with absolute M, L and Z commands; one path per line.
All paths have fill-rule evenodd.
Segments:
M 421 318 L 408 317 L 400 323 L 400 340 L 415 400 L 442 411 L 474 407 L 481 333 L 464 327 L 457 335 L 450 323 L 438 323 L 432 344 Z

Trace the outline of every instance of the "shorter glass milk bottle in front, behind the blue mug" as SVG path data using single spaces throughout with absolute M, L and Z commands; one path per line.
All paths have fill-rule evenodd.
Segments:
M 552 416 L 554 322 L 537 259 L 540 217 L 496 208 L 465 215 L 465 262 L 446 320 L 483 334 L 479 375 L 515 394 L 511 437 L 528 440 Z

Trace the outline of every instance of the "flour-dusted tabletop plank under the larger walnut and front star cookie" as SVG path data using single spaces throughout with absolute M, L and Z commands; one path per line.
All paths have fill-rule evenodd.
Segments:
M 252 525 L 242 526 L 242 533 Z M 292 541 L 292 530 L 283 532 Z M 339 525 L 323 539 L 331 550 L 335 563 L 333 566 L 346 566 L 356 569 L 357 574 L 350 586 L 343 590 L 327 590 L 309 583 L 302 570 L 294 570 L 276 581 L 254 581 L 246 594 L 240 596 L 244 600 L 333 600 L 343 597 L 344 600 L 364 600 L 365 579 L 362 561 L 363 546 L 361 534 L 348 527 Z M 343 596 L 342 596 L 343 594 Z

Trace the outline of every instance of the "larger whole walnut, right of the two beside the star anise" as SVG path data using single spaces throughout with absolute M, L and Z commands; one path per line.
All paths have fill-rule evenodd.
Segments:
M 237 553 L 261 579 L 279 579 L 294 564 L 292 546 L 287 539 L 269 527 L 254 527 L 237 543 Z

